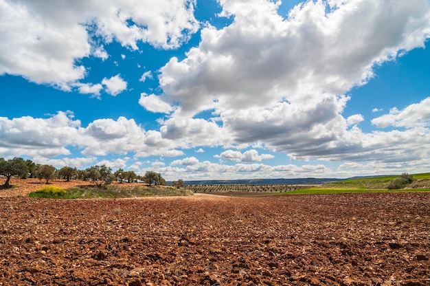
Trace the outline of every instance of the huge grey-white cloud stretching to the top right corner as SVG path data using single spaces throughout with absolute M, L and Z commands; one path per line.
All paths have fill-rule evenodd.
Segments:
M 220 3 L 234 22 L 204 28 L 199 47 L 161 68 L 161 88 L 185 114 L 344 94 L 372 78 L 374 65 L 424 46 L 430 32 L 426 0 L 342 1 L 330 13 L 326 2 L 307 1 L 288 19 L 271 1 Z

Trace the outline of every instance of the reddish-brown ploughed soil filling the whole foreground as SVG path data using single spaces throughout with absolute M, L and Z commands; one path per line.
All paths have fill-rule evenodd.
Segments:
M 430 285 L 428 192 L 1 197 L 0 213 L 0 285 Z

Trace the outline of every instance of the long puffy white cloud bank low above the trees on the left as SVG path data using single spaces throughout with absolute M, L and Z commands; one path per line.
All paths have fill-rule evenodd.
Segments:
M 46 161 L 71 155 L 70 148 L 77 148 L 91 162 L 96 156 L 111 154 L 133 153 L 135 157 L 184 154 L 177 150 L 177 142 L 163 138 L 158 131 L 145 131 L 133 119 L 99 119 L 88 126 L 81 126 L 80 120 L 73 119 L 73 113 L 63 111 L 49 118 L 25 116 L 10 120 L 0 117 L 0 137 L 4 138 L 0 141 L 0 157 L 27 156 L 45 158 Z M 61 160 L 58 164 L 87 164 L 80 159 L 72 159 L 58 159 Z

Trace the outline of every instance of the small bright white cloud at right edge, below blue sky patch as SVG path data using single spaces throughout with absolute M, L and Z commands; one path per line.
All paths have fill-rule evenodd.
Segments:
M 407 127 L 429 126 L 430 124 L 430 98 L 425 98 L 419 103 L 411 104 L 402 111 L 396 107 L 389 114 L 382 115 L 372 120 L 372 124 L 385 128 L 387 126 Z

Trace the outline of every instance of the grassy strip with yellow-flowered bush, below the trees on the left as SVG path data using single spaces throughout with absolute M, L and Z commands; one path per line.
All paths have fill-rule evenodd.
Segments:
M 82 186 L 79 188 L 69 188 L 63 191 L 64 193 L 59 195 L 59 193 L 54 194 L 47 191 L 36 190 L 35 192 L 30 192 L 28 197 L 43 197 L 48 199 L 124 199 L 193 195 L 193 192 L 190 192 L 190 190 L 159 186 L 106 186 L 102 188 Z

